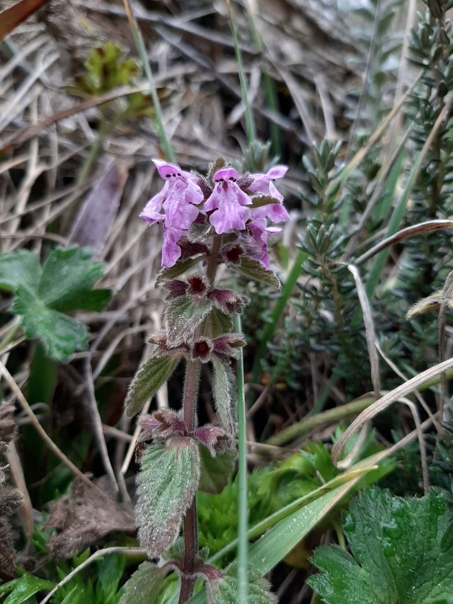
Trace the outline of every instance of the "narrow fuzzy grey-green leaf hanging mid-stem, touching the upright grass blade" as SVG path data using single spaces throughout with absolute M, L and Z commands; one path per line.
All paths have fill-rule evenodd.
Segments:
M 213 361 L 213 396 L 220 425 L 227 434 L 236 435 L 236 380 L 231 367 L 221 361 Z

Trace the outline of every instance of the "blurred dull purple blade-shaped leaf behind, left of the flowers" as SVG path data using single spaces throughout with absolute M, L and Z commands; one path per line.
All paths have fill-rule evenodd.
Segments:
M 112 165 L 85 199 L 69 235 L 70 243 L 88 246 L 97 256 L 102 251 L 117 215 L 129 172 L 124 164 Z

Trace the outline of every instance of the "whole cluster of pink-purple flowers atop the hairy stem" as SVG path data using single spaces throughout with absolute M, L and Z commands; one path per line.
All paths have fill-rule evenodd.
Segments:
M 161 159 L 153 162 L 165 184 L 140 217 L 150 225 L 162 222 L 162 266 L 170 268 L 184 257 L 184 247 L 187 242 L 192 243 L 190 228 L 196 223 L 206 226 L 205 236 L 211 227 L 217 234 L 237 233 L 243 245 L 248 246 L 249 257 L 269 268 L 268 239 L 281 229 L 268 226 L 267 219 L 274 223 L 289 220 L 283 196 L 274 185 L 275 179 L 286 174 L 286 166 L 277 165 L 266 174 L 246 173 L 239 177 L 233 167 L 223 165 L 210 180 Z

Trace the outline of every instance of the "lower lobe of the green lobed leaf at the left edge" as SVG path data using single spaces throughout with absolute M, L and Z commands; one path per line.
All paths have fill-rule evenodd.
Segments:
M 21 315 L 27 338 L 39 338 L 48 356 L 66 363 L 76 350 L 85 350 L 89 333 L 85 325 L 51 310 L 23 286 L 16 288 L 11 312 Z

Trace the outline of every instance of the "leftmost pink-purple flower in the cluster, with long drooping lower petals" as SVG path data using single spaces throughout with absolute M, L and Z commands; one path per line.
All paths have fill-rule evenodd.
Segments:
M 165 184 L 146 204 L 140 217 L 150 225 L 164 222 L 162 266 L 170 267 L 181 256 L 178 240 L 182 231 L 187 230 L 198 217 L 196 205 L 202 203 L 204 194 L 195 175 L 184 172 L 179 165 L 169 164 L 161 159 L 153 159 L 153 162 Z

